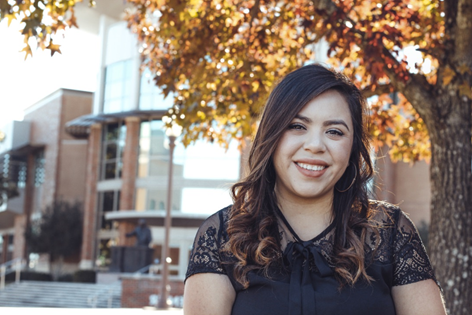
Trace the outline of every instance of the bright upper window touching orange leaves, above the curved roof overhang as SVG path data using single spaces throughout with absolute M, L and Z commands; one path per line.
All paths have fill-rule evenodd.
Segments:
M 162 90 L 154 84 L 153 76 L 149 69 L 143 71 L 139 91 L 139 109 L 141 110 L 165 110 L 174 105 L 174 95 L 169 93 L 166 98 Z

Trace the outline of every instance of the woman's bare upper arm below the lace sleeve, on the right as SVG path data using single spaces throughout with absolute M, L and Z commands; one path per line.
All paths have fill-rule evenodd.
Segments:
M 441 292 L 431 279 L 394 286 L 392 296 L 397 315 L 446 315 Z

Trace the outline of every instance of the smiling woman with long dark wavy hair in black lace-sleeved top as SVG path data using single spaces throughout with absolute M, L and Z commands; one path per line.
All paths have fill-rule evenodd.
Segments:
M 367 198 L 364 110 L 319 65 L 275 87 L 234 204 L 196 236 L 185 314 L 445 314 L 412 222 Z

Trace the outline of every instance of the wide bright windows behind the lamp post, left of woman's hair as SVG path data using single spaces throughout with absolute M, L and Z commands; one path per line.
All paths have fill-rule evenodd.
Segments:
M 135 208 L 137 211 L 164 210 L 169 143 L 163 122 L 142 122 L 139 144 Z M 218 144 L 198 141 L 185 149 L 177 140 L 173 162 L 172 210 L 213 213 L 232 202 L 229 188 L 238 180 L 240 167 L 237 143 L 225 150 Z

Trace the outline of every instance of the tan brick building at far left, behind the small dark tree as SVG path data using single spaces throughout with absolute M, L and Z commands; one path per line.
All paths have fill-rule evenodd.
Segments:
M 85 200 L 87 140 L 66 133 L 65 123 L 90 113 L 92 98 L 89 92 L 60 89 L 27 108 L 23 121 L 2 130 L 1 170 L 19 192 L 0 211 L 2 262 L 25 257 L 26 226 L 54 200 Z

